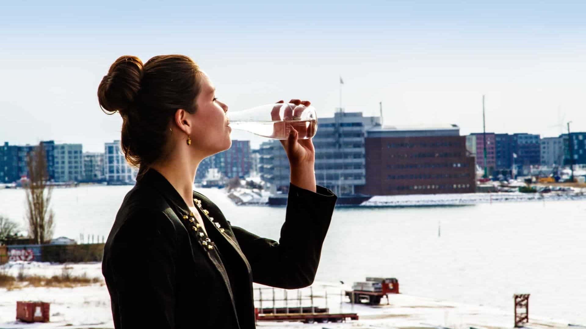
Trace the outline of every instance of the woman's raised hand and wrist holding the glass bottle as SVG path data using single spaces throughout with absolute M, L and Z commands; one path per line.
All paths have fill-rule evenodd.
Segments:
M 283 101 L 278 101 L 277 104 L 282 104 Z M 285 127 L 285 131 L 289 131 L 288 139 L 280 140 L 285 153 L 289 159 L 289 167 L 291 167 L 291 183 L 295 184 L 302 189 L 316 191 L 315 184 L 315 148 L 311 138 L 298 139 L 299 132 L 293 128 L 288 122 L 295 121 L 296 118 L 301 115 L 301 112 L 308 107 L 311 102 L 291 100 L 291 104 L 295 104 L 295 108 L 286 108 L 284 116 L 284 124 L 289 125 Z M 280 109 L 281 105 L 275 106 L 271 112 L 271 118 L 273 121 L 280 121 Z M 311 133 L 311 135 L 313 135 Z

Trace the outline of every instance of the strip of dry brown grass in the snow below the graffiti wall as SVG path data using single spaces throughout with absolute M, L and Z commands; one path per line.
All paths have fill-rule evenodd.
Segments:
M 21 269 L 18 275 L 11 276 L 6 271 L 0 271 L 0 287 L 7 290 L 19 289 L 22 287 L 59 287 L 59 288 L 73 288 L 79 286 L 92 285 L 94 283 L 103 283 L 100 277 L 87 277 L 86 273 L 83 275 L 71 275 L 71 268 L 63 267 L 61 275 L 53 275 L 51 277 L 40 275 L 26 275 Z

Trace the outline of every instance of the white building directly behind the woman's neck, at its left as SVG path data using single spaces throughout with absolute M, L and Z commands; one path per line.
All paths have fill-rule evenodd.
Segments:
M 104 143 L 104 177 L 108 184 L 134 184 L 138 169 L 128 165 L 120 147 L 120 140 Z

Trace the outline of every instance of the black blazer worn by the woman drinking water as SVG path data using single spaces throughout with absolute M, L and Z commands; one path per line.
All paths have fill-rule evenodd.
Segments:
M 254 328 L 253 281 L 285 289 L 314 281 L 332 191 L 291 184 L 279 242 L 231 226 L 212 201 L 193 197 L 207 236 L 154 169 L 124 198 L 102 262 L 115 328 Z

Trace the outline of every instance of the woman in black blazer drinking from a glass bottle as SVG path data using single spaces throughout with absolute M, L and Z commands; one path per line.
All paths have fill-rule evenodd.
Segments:
M 122 150 L 139 167 L 104 248 L 115 328 L 254 328 L 253 281 L 311 285 L 336 202 L 316 186 L 311 139 L 292 130 L 282 141 L 291 185 L 276 242 L 231 226 L 193 191 L 197 165 L 231 140 L 228 107 L 189 57 L 156 56 L 143 66 L 122 56 L 98 100 L 122 116 Z

